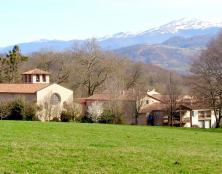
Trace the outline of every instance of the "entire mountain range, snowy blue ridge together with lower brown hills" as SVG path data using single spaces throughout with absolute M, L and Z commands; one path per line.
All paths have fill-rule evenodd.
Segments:
M 181 71 L 186 69 L 189 57 L 197 55 L 221 29 L 222 23 L 183 18 L 146 31 L 106 35 L 98 38 L 98 42 L 102 49 L 128 54 L 133 61 L 151 62 Z M 62 51 L 70 48 L 75 42 L 84 41 L 41 39 L 17 45 L 25 54 L 45 47 Z M 0 48 L 0 53 L 8 52 L 13 46 Z

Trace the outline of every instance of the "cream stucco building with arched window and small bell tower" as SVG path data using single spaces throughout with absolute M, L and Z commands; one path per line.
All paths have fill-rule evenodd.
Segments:
M 50 84 L 49 72 L 39 69 L 22 73 L 23 83 L 0 83 L 0 100 L 19 96 L 42 106 L 38 118 L 42 121 L 58 117 L 59 112 L 73 102 L 73 91 L 56 83 Z

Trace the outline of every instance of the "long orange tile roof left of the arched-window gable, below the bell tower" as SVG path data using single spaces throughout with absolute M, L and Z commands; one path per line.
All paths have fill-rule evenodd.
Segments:
M 0 83 L 0 93 L 35 93 L 50 84 Z

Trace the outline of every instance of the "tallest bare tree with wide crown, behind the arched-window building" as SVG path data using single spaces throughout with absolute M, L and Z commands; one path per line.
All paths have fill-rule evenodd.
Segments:
M 74 68 L 76 85 L 86 88 L 87 96 L 97 92 L 123 61 L 113 52 L 101 50 L 95 38 L 81 45 L 76 43 L 71 53 L 77 65 Z

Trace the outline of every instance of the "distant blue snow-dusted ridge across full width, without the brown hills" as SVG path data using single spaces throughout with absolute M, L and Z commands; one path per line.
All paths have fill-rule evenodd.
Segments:
M 183 18 L 172 21 L 160 27 L 155 27 L 139 32 L 120 32 L 98 38 L 103 49 L 116 49 L 134 44 L 161 44 L 167 39 L 175 36 L 193 37 L 195 35 L 216 34 L 222 29 L 222 23 L 211 23 L 195 18 Z M 35 42 L 17 44 L 23 53 L 38 51 L 42 47 L 64 50 L 70 48 L 74 42 L 82 40 L 46 40 L 41 39 Z M 15 43 L 16 44 L 16 43 Z M 0 48 L 0 52 L 8 52 L 13 46 Z

